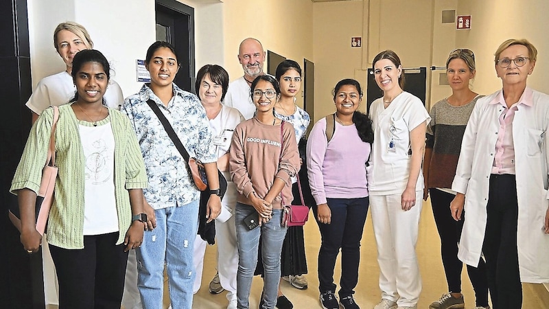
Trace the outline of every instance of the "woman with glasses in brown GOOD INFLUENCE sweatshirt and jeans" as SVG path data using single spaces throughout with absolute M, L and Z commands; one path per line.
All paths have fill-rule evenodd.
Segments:
M 255 78 L 250 90 L 255 117 L 236 126 L 231 142 L 229 168 L 239 193 L 235 209 L 238 308 L 250 308 L 259 236 L 265 274 L 259 308 L 272 309 L 277 304 L 280 254 L 286 235 L 281 225 L 282 207 L 294 199 L 292 177 L 300 165 L 294 127 L 274 117 L 272 110 L 280 93 L 272 76 Z M 253 227 L 254 223 L 259 226 Z

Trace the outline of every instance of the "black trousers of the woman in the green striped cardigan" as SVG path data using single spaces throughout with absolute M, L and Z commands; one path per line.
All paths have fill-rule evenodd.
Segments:
M 60 309 L 120 309 L 128 253 L 118 232 L 84 236 L 84 249 L 49 244 L 59 281 Z

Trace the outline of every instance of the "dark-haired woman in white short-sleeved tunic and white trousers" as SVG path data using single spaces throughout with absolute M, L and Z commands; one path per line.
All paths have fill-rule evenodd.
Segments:
M 382 300 L 375 309 L 417 308 L 421 276 L 416 255 L 429 113 L 419 98 L 404 91 L 399 56 L 386 50 L 373 59 L 383 97 L 370 107 L 374 139 L 368 190 L 377 243 Z

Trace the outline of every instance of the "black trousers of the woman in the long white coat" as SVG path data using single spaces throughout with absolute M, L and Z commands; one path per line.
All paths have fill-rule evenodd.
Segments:
M 517 182 L 515 175 L 492 174 L 487 205 L 486 258 L 488 286 L 494 309 L 520 309 L 522 284 L 517 253 Z

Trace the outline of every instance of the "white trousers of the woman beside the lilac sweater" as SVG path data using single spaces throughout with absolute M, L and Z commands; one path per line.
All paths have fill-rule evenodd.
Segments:
M 423 192 L 416 192 L 416 205 L 401 209 L 401 194 L 370 195 L 373 232 L 377 243 L 379 288 L 382 298 L 399 307 L 415 306 L 421 293 L 421 275 L 416 255 Z

